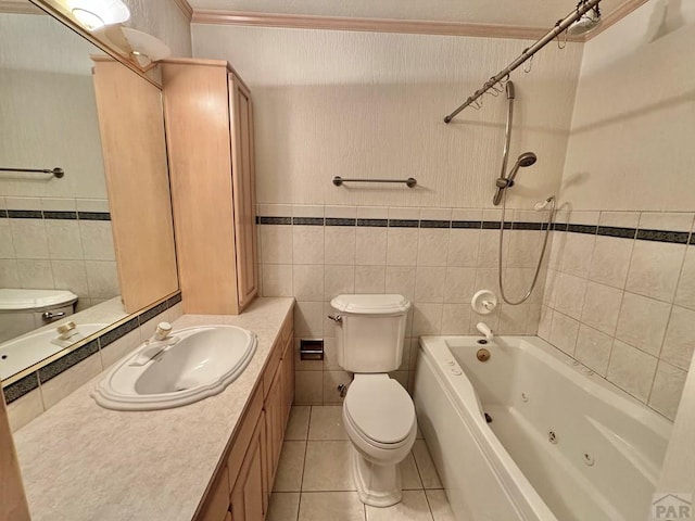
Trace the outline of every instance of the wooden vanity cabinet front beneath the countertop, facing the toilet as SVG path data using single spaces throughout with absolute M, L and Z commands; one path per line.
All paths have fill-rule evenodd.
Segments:
M 263 521 L 294 397 L 292 313 L 268 354 L 224 466 L 213 480 L 197 521 Z M 289 379 L 288 374 L 292 373 Z

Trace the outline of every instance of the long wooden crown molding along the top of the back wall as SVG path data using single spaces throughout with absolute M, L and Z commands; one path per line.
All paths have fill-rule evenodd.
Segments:
M 294 29 L 356 30 L 370 33 L 405 33 L 414 35 L 473 36 L 488 38 L 539 39 L 547 30 L 541 27 L 465 24 L 459 22 L 425 22 L 388 18 L 352 18 L 296 14 L 249 13 L 240 11 L 193 10 L 194 24 L 251 25 Z

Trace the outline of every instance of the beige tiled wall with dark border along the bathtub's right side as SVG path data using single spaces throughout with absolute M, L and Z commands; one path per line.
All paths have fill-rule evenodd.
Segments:
M 693 217 L 558 215 L 539 325 L 540 336 L 670 419 L 695 348 Z

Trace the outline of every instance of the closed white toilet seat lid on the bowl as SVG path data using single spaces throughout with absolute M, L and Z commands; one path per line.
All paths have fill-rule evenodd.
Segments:
M 415 429 L 413 401 L 388 374 L 355 374 L 343 408 L 355 433 L 375 447 L 400 448 Z

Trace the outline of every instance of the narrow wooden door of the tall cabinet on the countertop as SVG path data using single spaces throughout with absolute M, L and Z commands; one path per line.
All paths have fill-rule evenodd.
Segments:
M 256 198 L 251 93 L 229 75 L 231 111 L 231 181 L 237 242 L 237 291 L 243 309 L 258 292 Z

